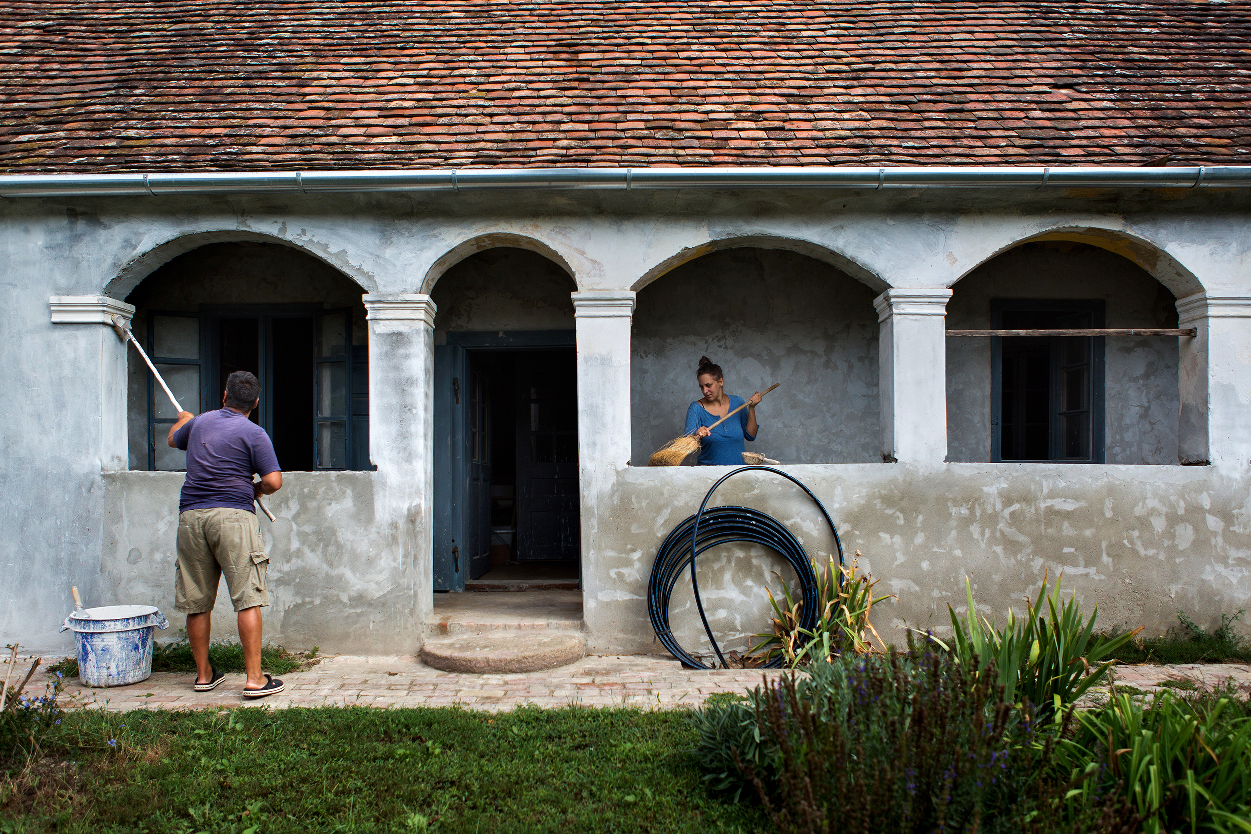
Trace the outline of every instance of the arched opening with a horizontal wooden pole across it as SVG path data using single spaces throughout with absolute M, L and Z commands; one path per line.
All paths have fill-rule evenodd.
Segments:
M 1177 328 L 1176 298 L 1140 263 L 1047 235 L 952 288 L 947 328 Z M 951 461 L 1178 463 L 1177 336 L 947 339 Z

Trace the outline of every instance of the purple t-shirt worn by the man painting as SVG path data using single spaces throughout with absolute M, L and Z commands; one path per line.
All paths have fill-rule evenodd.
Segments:
M 253 473 L 279 471 L 274 444 L 259 425 L 231 409 L 205 411 L 174 433 L 186 450 L 186 480 L 178 511 L 225 506 L 255 513 Z

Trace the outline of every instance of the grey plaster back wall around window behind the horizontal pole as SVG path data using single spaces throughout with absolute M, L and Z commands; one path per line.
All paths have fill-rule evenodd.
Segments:
M 1102 299 L 1108 328 L 1176 328 L 1176 299 L 1141 266 L 1087 244 L 1018 246 L 955 285 L 947 328 L 991 326 L 992 299 Z M 1177 461 L 1177 339 L 1107 339 L 1107 463 Z M 991 459 L 991 340 L 947 340 L 947 459 Z

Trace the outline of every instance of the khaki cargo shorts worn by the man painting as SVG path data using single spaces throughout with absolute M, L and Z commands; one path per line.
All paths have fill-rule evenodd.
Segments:
M 216 506 L 178 516 L 178 566 L 174 609 L 181 614 L 211 611 L 225 574 L 235 611 L 269 605 L 269 556 L 260 541 L 256 515 Z

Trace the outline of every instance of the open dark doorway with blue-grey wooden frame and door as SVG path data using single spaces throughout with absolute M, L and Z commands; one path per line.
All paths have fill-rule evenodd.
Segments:
M 572 341 L 555 333 L 523 335 Z M 435 348 L 437 590 L 578 586 L 575 351 L 509 345 L 518 335 Z

